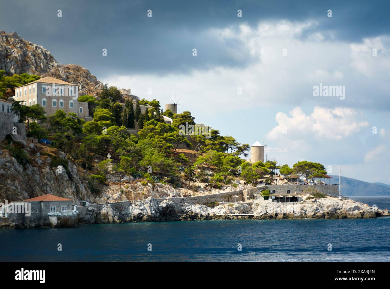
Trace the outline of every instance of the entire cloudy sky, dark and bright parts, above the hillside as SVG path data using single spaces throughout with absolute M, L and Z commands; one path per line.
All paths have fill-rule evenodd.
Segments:
M 163 107 L 176 96 L 197 123 L 266 143 L 279 164 L 390 183 L 389 11 L 388 1 L 0 0 L 0 30 Z

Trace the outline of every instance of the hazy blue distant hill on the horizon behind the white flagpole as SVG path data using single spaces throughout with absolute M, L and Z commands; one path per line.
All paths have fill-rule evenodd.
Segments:
M 339 183 L 339 176 L 332 177 L 333 179 L 330 179 L 331 184 Z M 342 176 L 341 194 L 343 196 L 390 196 L 390 185 L 368 183 Z

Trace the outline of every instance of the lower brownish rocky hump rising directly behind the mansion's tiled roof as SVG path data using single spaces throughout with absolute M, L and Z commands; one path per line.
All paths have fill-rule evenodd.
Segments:
M 64 64 L 52 69 L 50 72 L 43 74 L 41 77 L 53 77 L 63 81 L 77 84 L 79 86 L 79 95 L 97 96 L 103 88 L 96 76 L 91 74 L 88 69 L 76 64 Z

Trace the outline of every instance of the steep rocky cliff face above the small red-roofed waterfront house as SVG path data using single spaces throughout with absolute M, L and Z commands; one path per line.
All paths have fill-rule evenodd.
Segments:
M 67 168 L 51 167 L 51 158 L 37 152 L 36 146 L 41 144 L 27 143 L 19 140 L 25 146 L 29 161 L 19 164 L 8 150 L 0 151 L 0 198 L 9 201 L 20 201 L 43 194 L 73 199 L 75 203 L 91 194 L 85 181 L 80 176 L 76 165 L 67 161 Z M 55 150 L 53 153 L 55 153 Z M 66 155 L 57 152 L 58 157 Z

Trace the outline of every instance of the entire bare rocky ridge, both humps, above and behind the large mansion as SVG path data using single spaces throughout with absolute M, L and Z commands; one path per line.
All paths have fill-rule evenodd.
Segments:
M 96 96 L 103 88 L 103 83 L 88 69 L 76 64 L 60 65 L 50 51 L 22 39 L 16 32 L 0 31 L 0 70 L 5 70 L 7 76 L 28 73 L 62 79 L 79 85 L 80 95 Z

